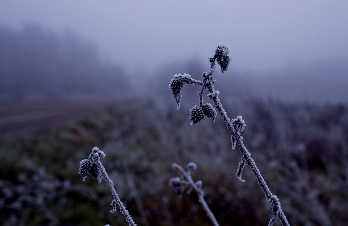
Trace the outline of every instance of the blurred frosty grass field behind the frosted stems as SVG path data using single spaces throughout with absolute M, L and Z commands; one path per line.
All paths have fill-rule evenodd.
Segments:
M 346 105 L 231 100 L 224 106 L 230 117 L 243 115 L 244 142 L 291 225 L 348 220 Z M 203 181 L 221 225 L 267 224 L 270 206 L 252 172 L 244 170 L 245 183 L 235 177 L 241 155 L 231 149 L 226 126 L 219 117 L 213 125 L 206 119 L 189 126 L 190 107 L 136 101 L 1 140 L 0 224 L 127 225 L 109 212 L 105 181 L 82 182 L 78 174 L 79 161 L 95 146 L 105 152 L 104 167 L 139 225 L 137 195 L 150 225 L 211 225 L 194 193 L 177 199 L 168 186 L 177 176 L 171 164 L 189 161 L 197 163 L 193 179 Z

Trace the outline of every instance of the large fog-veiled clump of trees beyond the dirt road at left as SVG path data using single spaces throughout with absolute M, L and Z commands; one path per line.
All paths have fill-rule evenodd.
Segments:
M 97 48 L 72 31 L 0 27 L 0 102 L 117 97 L 129 86 L 121 67 L 103 64 Z

